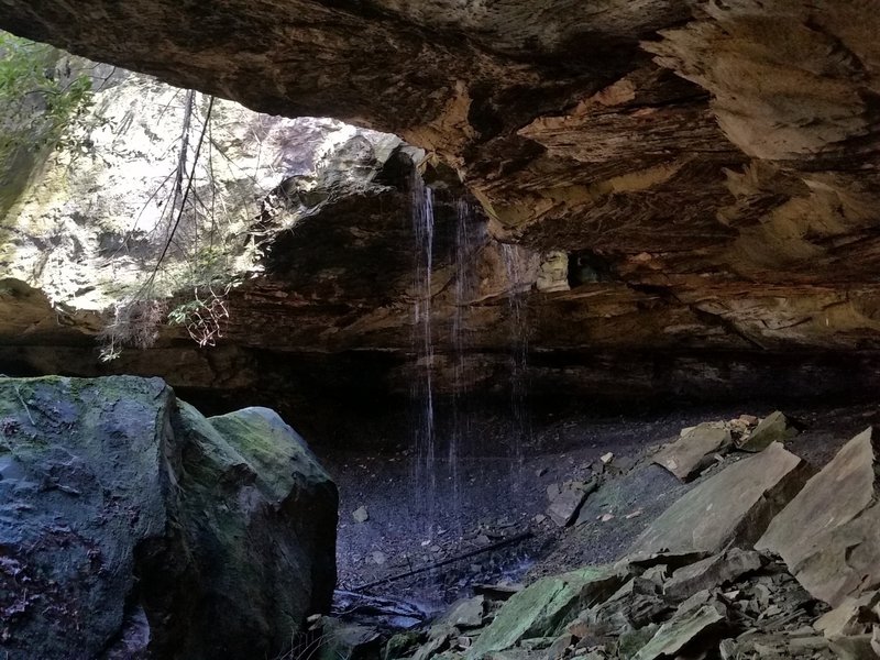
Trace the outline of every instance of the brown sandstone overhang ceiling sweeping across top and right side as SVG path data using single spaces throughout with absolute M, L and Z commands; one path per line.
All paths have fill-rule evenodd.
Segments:
M 0 28 L 428 150 L 496 239 L 606 265 L 532 296 L 534 345 L 880 348 L 880 2 L 3 0 Z

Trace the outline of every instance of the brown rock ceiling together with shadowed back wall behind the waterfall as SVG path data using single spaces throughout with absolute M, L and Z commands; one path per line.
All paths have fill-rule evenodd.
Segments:
M 4 7 L 0 26 L 24 36 L 427 150 L 440 372 L 463 342 L 480 365 L 472 381 L 492 382 L 492 365 L 525 337 L 554 383 L 584 373 L 595 383 L 623 363 L 641 365 L 632 377 L 645 391 L 675 373 L 700 391 L 760 381 L 754 365 L 771 354 L 843 351 L 862 364 L 879 348 L 875 2 Z M 384 158 L 371 164 L 384 179 L 278 234 L 264 276 L 232 294 L 230 342 L 215 363 L 222 351 L 374 350 L 399 356 L 382 373 L 405 382 L 417 353 L 417 237 L 407 166 Z M 463 288 L 461 200 L 479 233 Z M 526 292 L 522 317 L 512 290 Z M 711 367 L 694 358 L 719 351 Z M 587 353 L 614 358 L 579 371 Z M 793 381 L 825 373 L 792 362 Z

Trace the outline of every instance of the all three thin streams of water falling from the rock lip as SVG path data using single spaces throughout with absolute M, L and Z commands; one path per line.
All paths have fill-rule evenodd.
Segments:
M 428 539 L 433 539 L 440 529 L 438 514 L 451 514 L 449 518 L 455 528 L 461 531 L 461 516 L 463 505 L 464 480 L 460 470 L 461 450 L 464 439 L 471 435 L 470 419 L 466 414 L 468 406 L 462 398 L 462 393 L 468 388 L 466 373 L 466 323 L 471 300 L 474 297 L 474 261 L 481 248 L 485 244 L 485 227 L 477 222 L 474 208 L 464 199 L 455 201 L 455 224 L 452 257 L 451 293 L 454 295 L 453 314 L 449 321 L 450 354 L 444 355 L 452 370 L 451 410 L 443 424 L 439 424 L 437 415 L 436 372 L 437 360 L 435 345 L 438 339 L 438 328 L 432 318 L 432 297 L 436 294 L 433 268 L 439 265 L 438 243 L 442 241 L 442 229 L 435 224 L 433 191 L 425 185 L 422 178 L 416 174 L 411 186 L 413 231 L 415 235 L 415 268 L 414 268 L 414 317 L 413 317 L 413 346 L 415 353 L 416 372 L 410 387 L 410 394 L 416 405 L 414 443 L 415 461 L 413 470 L 414 504 L 418 506 L 425 519 Z M 443 227 L 443 224 L 441 224 Z M 449 226 L 446 226 L 449 227 Z M 449 227 L 452 229 L 452 227 Z M 440 231 L 441 240 L 437 232 Z M 448 254 L 441 252 L 440 261 L 444 263 Z M 519 248 L 502 245 L 502 258 L 508 279 L 508 315 L 510 323 L 510 427 L 508 458 L 510 459 L 512 473 L 519 475 L 524 461 L 524 448 L 530 437 L 530 419 L 527 413 L 527 319 L 525 293 L 528 290 L 528 277 L 524 264 L 526 260 Z M 447 289 L 450 290 L 450 289 Z M 442 429 L 442 433 L 441 433 Z M 443 437 L 440 437 L 440 436 Z M 442 479 L 442 481 L 440 481 Z M 519 476 L 513 480 L 514 488 L 518 490 Z M 440 492 L 442 490 L 442 493 Z M 442 497 L 442 509 L 439 502 Z

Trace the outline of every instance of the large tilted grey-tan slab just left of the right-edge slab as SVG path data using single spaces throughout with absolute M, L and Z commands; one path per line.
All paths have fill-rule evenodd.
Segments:
M 809 465 L 774 442 L 697 485 L 636 539 L 632 556 L 754 543 L 803 487 Z

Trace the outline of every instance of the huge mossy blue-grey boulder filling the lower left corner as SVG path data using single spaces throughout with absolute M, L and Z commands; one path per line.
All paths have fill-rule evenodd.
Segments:
M 337 490 L 271 410 L 0 378 L 0 657 L 256 658 L 329 606 Z

